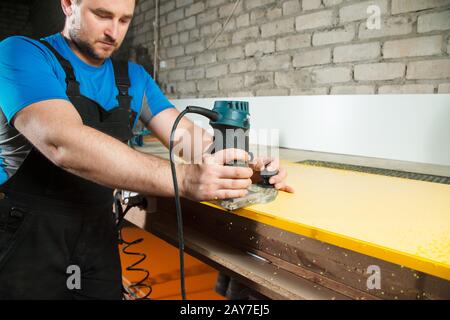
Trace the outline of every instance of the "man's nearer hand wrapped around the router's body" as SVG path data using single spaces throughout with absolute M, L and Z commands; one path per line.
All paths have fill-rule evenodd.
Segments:
M 205 154 L 201 164 L 180 164 L 178 185 L 182 197 L 194 201 L 240 198 L 247 195 L 253 170 L 226 166 L 233 160 L 249 161 L 249 154 L 239 149 L 225 149 Z

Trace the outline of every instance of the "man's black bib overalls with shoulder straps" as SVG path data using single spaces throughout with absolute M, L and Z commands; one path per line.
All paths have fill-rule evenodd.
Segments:
M 119 106 L 107 112 L 80 94 L 70 62 L 41 42 L 64 68 L 83 123 L 127 142 L 136 119 L 128 63 L 113 61 Z M 0 186 L 0 199 L 0 299 L 121 299 L 112 189 L 64 171 L 33 148 Z

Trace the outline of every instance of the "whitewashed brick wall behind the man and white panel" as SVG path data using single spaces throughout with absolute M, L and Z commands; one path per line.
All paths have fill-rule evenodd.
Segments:
M 244 0 L 232 17 L 235 0 L 160 3 L 169 97 L 450 91 L 450 0 Z M 149 54 L 154 4 L 141 0 L 126 42 Z

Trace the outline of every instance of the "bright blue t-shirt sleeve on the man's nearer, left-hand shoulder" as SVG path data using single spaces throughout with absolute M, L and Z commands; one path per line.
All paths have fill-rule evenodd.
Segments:
M 35 41 L 10 37 L 0 43 L 0 108 L 8 123 L 23 108 L 50 99 L 68 100 L 51 57 Z

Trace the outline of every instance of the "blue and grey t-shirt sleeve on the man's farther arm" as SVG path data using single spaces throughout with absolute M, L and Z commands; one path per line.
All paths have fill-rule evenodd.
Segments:
M 140 120 L 148 124 L 150 120 L 165 109 L 174 108 L 174 105 L 167 99 L 161 91 L 155 80 L 140 66 L 142 75 L 145 79 L 144 97 L 142 99 L 142 108 Z

